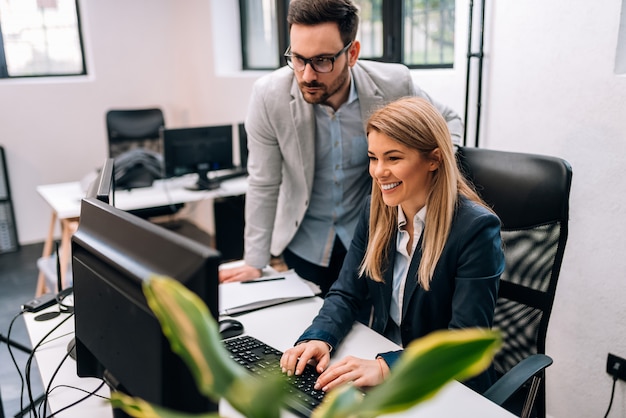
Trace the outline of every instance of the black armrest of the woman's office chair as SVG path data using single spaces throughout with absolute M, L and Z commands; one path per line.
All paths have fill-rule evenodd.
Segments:
M 533 354 L 525 358 L 487 389 L 483 396 L 502 405 L 533 376 L 552 364 L 552 358 L 545 354 Z

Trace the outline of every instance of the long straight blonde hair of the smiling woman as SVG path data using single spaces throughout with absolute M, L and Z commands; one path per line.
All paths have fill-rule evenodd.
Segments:
M 422 259 L 418 278 L 428 290 L 435 267 L 448 239 L 459 194 L 485 207 L 460 173 L 450 132 L 439 111 L 428 101 L 417 97 L 396 100 L 370 116 L 367 133 L 377 131 L 413 149 L 428 160 L 436 159 L 439 167 L 433 172 L 426 198 L 426 220 L 422 240 Z M 439 149 L 439 153 L 434 153 Z M 387 206 L 380 188 L 372 180 L 369 238 L 359 273 L 383 281 L 383 266 L 389 267 L 389 244 L 398 225 L 398 209 Z M 419 239 L 419 237 L 414 237 Z

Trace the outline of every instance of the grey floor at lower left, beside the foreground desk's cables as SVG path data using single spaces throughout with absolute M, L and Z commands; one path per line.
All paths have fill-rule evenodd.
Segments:
M 10 342 L 31 347 L 24 320 L 17 317 L 13 323 L 9 335 L 11 321 L 20 313 L 20 306 L 35 296 L 37 285 L 37 259 L 41 257 L 43 243 L 24 245 L 18 251 L 0 254 L 0 394 L 4 404 L 4 416 L 13 417 L 19 414 L 21 380 L 20 373 L 24 375 L 28 354 L 15 348 L 9 347 L 6 337 Z M 13 364 L 10 356 L 13 353 L 18 369 Z M 31 369 L 32 393 L 34 397 L 43 393 L 43 386 L 36 367 Z M 28 404 L 28 391 L 23 391 L 23 406 Z M 0 417 L 2 414 L 0 414 Z M 28 416 L 28 415 L 26 415 Z

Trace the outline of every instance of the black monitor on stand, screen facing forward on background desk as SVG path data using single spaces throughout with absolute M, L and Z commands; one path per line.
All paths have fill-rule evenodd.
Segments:
M 231 125 L 163 129 L 162 134 L 165 176 L 197 173 L 193 190 L 218 188 L 219 181 L 210 173 L 234 168 Z

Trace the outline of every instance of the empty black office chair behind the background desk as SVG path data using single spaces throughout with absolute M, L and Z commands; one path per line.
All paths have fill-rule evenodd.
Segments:
M 163 176 L 161 129 L 158 108 L 114 109 L 106 113 L 109 157 L 115 159 L 116 189 L 149 187 Z M 171 204 L 131 211 L 142 218 L 173 215 L 184 205 Z

